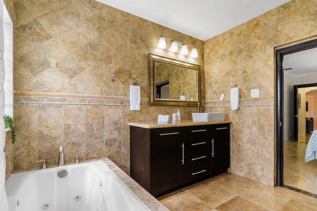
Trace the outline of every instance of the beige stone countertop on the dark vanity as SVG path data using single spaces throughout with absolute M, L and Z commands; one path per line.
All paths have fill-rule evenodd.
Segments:
M 192 120 L 182 120 L 179 122 L 161 123 L 158 122 L 141 122 L 129 123 L 129 126 L 142 127 L 142 128 L 163 128 L 163 127 L 184 127 L 184 126 L 200 126 L 200 125 L 215 125 L 232 123 L 232 121 L 215 121 L 215 122 L 195 122 Z

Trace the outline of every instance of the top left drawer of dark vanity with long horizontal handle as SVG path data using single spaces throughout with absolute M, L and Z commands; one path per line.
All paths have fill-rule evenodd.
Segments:
M 171 140 L 171 139 L 183 139 L 184 138 L 184 127 L 166 127 L 166 128 L 155 128 L 151 129 L 150 140 Z

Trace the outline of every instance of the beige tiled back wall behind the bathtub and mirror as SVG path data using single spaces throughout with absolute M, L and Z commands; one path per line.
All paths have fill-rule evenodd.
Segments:
M 97 105 L 93 99 L 129 97 L 136 80 L 147 102 L 148 54 L 198 64 L 203 70 L 203 41 L 95 0 L 16 0 L 13 6 L 14 90 L 29 97 L 19 101 L 15 94 L 15 102 L 28 103 L 14 109 L 15 170 L 37 167 L 39 159 L 56 164 L 58 147 L 64 144 L 66 162 L 77 154 L 82 160 L 106 156 L 129 172 L 129 122 L 156 121 L 159 114 L 177 109 L 190 118 L 197 111 L 147 103 L 141 111 L 130 111 L 120 100 Z M 199 57 L 158 49 L 159 35 L 196 46 Z M 114 74 L 117 78 L 110 82 Z M 62 93 L 76 102 L 37 107 L 47 93 Z

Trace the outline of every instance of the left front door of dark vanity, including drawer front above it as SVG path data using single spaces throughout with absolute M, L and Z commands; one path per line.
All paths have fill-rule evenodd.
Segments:
M 151 191 L 154 196 L 184 184 L 184 128 L 151 129 Z

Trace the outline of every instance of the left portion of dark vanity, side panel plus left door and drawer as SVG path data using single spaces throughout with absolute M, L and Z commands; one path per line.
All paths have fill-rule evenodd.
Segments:
M 152 195 L 184 184 L 184 128 L 130 126 L 130 174 Z

